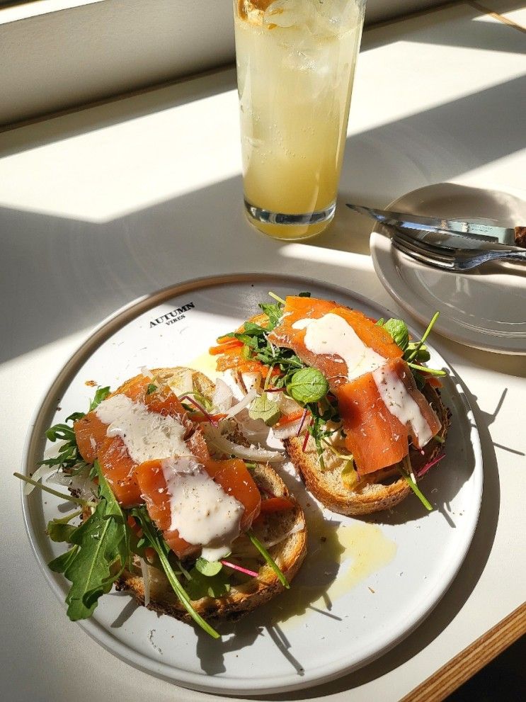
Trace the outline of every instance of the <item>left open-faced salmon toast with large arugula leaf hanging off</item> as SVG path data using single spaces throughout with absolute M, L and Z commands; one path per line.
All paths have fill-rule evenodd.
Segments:
M 144 370 L 115 392 L 99 389 L 87 414 L 47 432 L 62 446 L 29 482 L 59 494 L 38 483 L 57 470 L 79 504 L 48 525 L 52 540 L 71 544 L 49 565 L 72 583 L 72 620 L 91 616 L 115 583 L 217 637 L 210 622 L 237 619 L 289 587 L 306 552 L 304 515 L 266 460 L 278 454 L 236 436 L 235 415 L 215 414 L 215 395 L 195 370 Z M 203 431 L 219 419 L 232 435 L 226 450 Z

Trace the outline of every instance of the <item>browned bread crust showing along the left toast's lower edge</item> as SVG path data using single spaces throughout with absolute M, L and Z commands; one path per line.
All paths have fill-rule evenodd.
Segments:
M 291 497 L 285 483 L 268 465 L 258 464 L 253 470 L 253 477 L 264 490 L 276 497 Z M 291 499 L 293 499 L 291 497 Z M 295 500 L 294 500 L 295 502 Z M 297 502 L 287 511 L 270 513 L 256 520 L 253 525 L 256 536 L 268 546 L 268 551 L 280 570 L 290 582 L 302 565 L 307 553 L 307 528 L 304 514 Z M 251 553 L 251 543 L 246 536 L 240 536 L 234 542 L 233 554 L 238 551 Z M 149 566 L 149 594 L 147 607 L 159 613 L 169 614 L 182 621 L 190 622 L 190 616 L 173 593 L 164 573 Z M 130 592 L 139 604 L 144 605 L 144 581 L 138 561 L 130 570 L 126 570 L 115 584 L 118 590 Z M 242 584 L 232 585 L 228 594 L 222 597 L 203 597 L 193 601 L 193 607 L 208 621 L 236 621 L 249 611 L 264 604 L 284 589 L 275 572 L 263 565 L 257 578 L 248 579 Z

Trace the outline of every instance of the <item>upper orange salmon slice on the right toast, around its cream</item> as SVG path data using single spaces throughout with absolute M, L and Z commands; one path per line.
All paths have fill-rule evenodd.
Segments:
M 318 300 L 316 298 L 287 297 L 283 316 L 279 324 L 268 335 L 268 339 L 276 346 L 292 349 L 304 363 L 317 368 L 328 380 L 331 390 L 347 382 L 347 373 L 343 358 L 337 354 L 314 353 L 305 345 L 305 328 L 295 329 L 294 324 L 302 319 L 321 319 L 325 315 L 338 315 L 352 327 L 355 334 L 365 346 L 385 358 L 400 358 L 403 351 L 397 346 L 389 332 L 383 327 L 377 327 L 375 322 L 358 312 L 346 307 L 340 307 L 336 302 Z

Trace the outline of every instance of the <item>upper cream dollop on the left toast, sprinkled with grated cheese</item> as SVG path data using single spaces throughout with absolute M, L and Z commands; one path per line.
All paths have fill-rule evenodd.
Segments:
M 181 422 L 175 417 L 150 412 L 143 402 L 132 402 L 126 395 L 113 395 L 103 400 L 95 412 L 98 419 L 108 424 L 106 435 L 120 436 L 135 463 L 188 453 Z

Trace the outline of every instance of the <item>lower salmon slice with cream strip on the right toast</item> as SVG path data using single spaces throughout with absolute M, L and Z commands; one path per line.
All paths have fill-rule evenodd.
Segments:
M 377 384 L 382 382 L 391 386 L 389 397 L 384 399 Z M 365 373 L 341 385 L 336 397 L 345 446 L 353 454 L 358 473 L 362 475 L 399 463 L 408 454 L 409 438 L 421 448 L 440 430 L 440 420 L 416 387 L 411 370 L 401 358 L 392 359 L 373 373 Z M 415 419 L 401 421 L 408 417 Z

